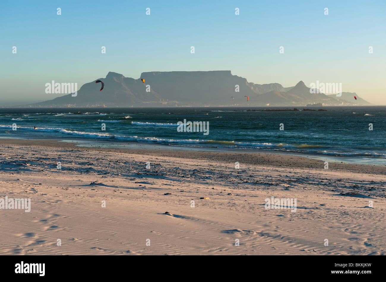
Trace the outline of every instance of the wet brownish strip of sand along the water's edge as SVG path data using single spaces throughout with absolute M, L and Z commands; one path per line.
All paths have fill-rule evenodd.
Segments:
M 92 144 L 98 144 L 92 146 Z M 100 146 L 100 144 L 107 144 Z M 149 144 L 137 142 L 116 142 L 116 141 L 95 141 L 84 139 L 2 139 L 0 138 L 0 146 L 39 146 L 49 148 L 72 149 L 79 151 L 100 151 L 100 152 L 115 152 L 125 154 L 142 154 L 147 156 L 167 156 L 173 158 L 201 159 L 201 160 L 217 160 L 228 162 L 230 165 L 235 165 L 236 162 L 245 165 L 263 165 L 263 166 L 278 166 L 289 168 L 306 168 L 324 170 L 325 159 L 320 156 L 312 156 L 311 154 L 281 154 L 272 153 L 269 151 L 258 151 L 249 149 L 240 149 L 240 151 L 219 149 L 219 148 L 192 148 L 168 146 L 163 144 Z M 115 147 L 116 146 L 116 147 Z M 125 148 L 127 147 L 127 148 Z M 310 156 L 311 155 L 311 156 Z M 386 166 L 381 165 L 364 165 L 355 163 L 343 163 L 337 161 L 328 161 L 328 169 L 342 170 L 351 172 L 361 172 L 367 174 L 386 175 Z

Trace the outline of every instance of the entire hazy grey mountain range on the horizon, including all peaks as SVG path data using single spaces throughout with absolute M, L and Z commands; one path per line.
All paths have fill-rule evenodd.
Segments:
M 101 84 L 95 83 L 97 80 L 105 84 L 102 91 Z M 105 78 L 95 81 L 81 86 L 76 97 L 67 94 L 30 106 L 305 106 L 340 105 L 342 101 L 352 104 L 325 94 L 312 94 L 303 81 L 286 88 L 278 83 L 254 84 L 230 71 L 142 72 L 139 79 L 108 72 Z

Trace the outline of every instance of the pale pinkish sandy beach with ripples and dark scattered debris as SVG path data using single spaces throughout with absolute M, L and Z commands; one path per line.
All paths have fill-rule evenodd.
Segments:
M 0 139 L 0 254 L 386 253 L 385 166 L 80 143 Z

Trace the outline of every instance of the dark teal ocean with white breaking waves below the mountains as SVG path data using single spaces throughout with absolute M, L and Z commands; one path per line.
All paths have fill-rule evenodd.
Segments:
M 386 106 L 315 109 L 319 108 L 327 111 L 264 111 L 288 107 L 0 108 L 0 138 L 252 149 L 386 165 Z M 74 114 L 77 112 L 82 114 Z M 184 119 L 208 123 L 208 134 L 179 132 L 177 123 Z M 14 124 L 17 130 L 12 130 Z

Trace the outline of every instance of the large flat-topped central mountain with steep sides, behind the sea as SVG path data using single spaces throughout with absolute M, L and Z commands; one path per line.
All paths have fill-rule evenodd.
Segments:
M 232 96 L 235 104 L 247 105 L 244 96 L 256 101 L 259 94 L 284 90 L 278 83 L 254 84 L 230 71 L 142 72 L 141 78 L 145 84 L 149 81 L 151 89 L 163 99 L 182 101 L 189 106 L 229 104 Z M 236 86 L 239 92 L 235 91 Z

